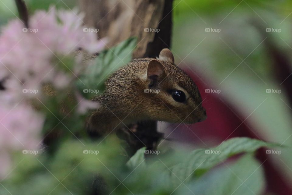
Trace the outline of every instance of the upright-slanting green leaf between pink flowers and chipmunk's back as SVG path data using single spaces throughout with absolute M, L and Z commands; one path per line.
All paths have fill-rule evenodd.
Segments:
M 84 92 L 84 97 L 90 99 L 103 92 L 106 79 L 118 68 L 131 61 L 136 43 L 137 38 L 132 37 L 99 54 L 94 63 L 88 66 L 85 74 L 77 81 L 78 89 L 80 92 Z M 92 90 L 94 92 L 90 93 Z M 97 90 L 98 93 L 95 92 Z

